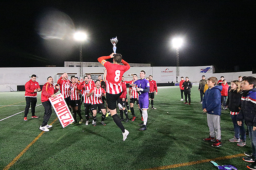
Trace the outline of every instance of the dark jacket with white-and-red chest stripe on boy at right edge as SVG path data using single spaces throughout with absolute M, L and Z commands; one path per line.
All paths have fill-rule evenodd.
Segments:
M 242 92 L 242 109 L 238 113 L 236 120 L 244 121 L 248 126 L 256 127 L 256 88 Z

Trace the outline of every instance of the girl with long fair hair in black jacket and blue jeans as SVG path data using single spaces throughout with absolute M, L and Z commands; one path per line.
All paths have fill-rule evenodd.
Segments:
M 243 147 L 246 141 L 246 133 L 244 129 L 244 123 L 242 126 L 238 126 L 236 122 L 237 114 L 241 109 L 241 97 L 242 97 L 242 87 L 238 80 L 231 82 L 231 89 L 228 93 L 228 100 L 226 102 L 226 107 L 230 110 L 230 116 L 234 124 L 235 136 L 229 139 L 230 142 L 238 142 L 238 146 Z M 240 138 L 241 135 L 241 138 Z

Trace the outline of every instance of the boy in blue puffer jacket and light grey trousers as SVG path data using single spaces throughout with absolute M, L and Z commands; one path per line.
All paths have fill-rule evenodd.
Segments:
M 222 86 L 216 86 L 218 78 L 209 77 L 207 80 L 208 90 L 206 90 L 203 98 L 203 111 L 207 112 L 207 124 L 210 136 L 205 138 L 206 142 L 214 142 L 212 147 L 220 147 L 221 131 L 220 131 L 220 113 L 221 113 L 221 90 Z M 216 139 L 215 139 L 216 137 Z

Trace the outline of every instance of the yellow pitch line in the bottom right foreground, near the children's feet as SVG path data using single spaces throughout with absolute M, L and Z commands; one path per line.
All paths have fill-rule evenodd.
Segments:
M 244 154 L 234 154 L 234 155 L 229 155 L 229 156 L 222 156 L 218 158 L 212 158 L 212 159 L 204 159 L 204 160 L 197 160 L 197 161 L 192 161 L 192 162 L 186 162 L 186 163 L 181 163 L 181 164 L 173 164 L 173 165 L 167 165 L 167 166 L 158 166 L 154 168 L 148 168 L 148 169 L 143 169 L 143 170 L 165 170 L 165 169 L 170 169 L 170 168 L 178 168 L 181 166 L 189 166 L 189 165 L 194 165 L 194 164 L 202 164 L 205 162 L 210 162 L 210 161 L 215 161 L 215 160 L 224 160 L 224 159 L 231 159 L 231 158 L 237 158 L 240 156 L 244 156 Z

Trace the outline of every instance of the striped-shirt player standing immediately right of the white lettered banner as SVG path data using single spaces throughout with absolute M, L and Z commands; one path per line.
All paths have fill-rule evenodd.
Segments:
M 79 94 L 81 93 L 80 90 L 78 90 L 78 83 L 76 83 L 76 77 L 75 76 L 71 76 L 71 84 L 70 84 L 70 105 L 73 109 L 73 117 L 74 117 L 74 122 L 71 123 L 71 124 L 74 124 L 74 123 L 77 123 L 77 120 L 76 120 L 76 113 L 78 114 L 79 118 L 80 118 L 80 121 L 79 121 L 79 124 L 81 124 L 83 122 L 83 118 L 82 118 L 82 115 L 81 115 L 81 111 L 80 109 L 78 109 L 79 105 L 80 104 L 80 96 Z

